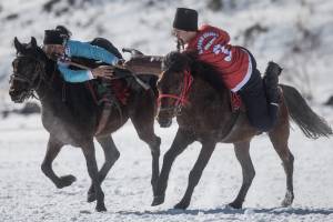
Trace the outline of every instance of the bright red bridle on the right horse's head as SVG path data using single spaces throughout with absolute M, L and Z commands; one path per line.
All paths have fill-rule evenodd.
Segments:
M 158 98 L 158 104 L 159 107 L 161 107 L 161 100 L 163 98 L 172 98 L 174 99 L 174 108 L 182 108 L 185 104 L 189 104 L 189 100 L 188 100 L 188 95 L 189 95 L 189 91 L 191 89 L 193 82 L 193 77 L 191 75 L 190 71 L 186 69 L 184 71 L 184 80 L 183 80 L 183 87 L 182 87 L 182 91 L 181 93 L 178 94 L 160 94 Z

